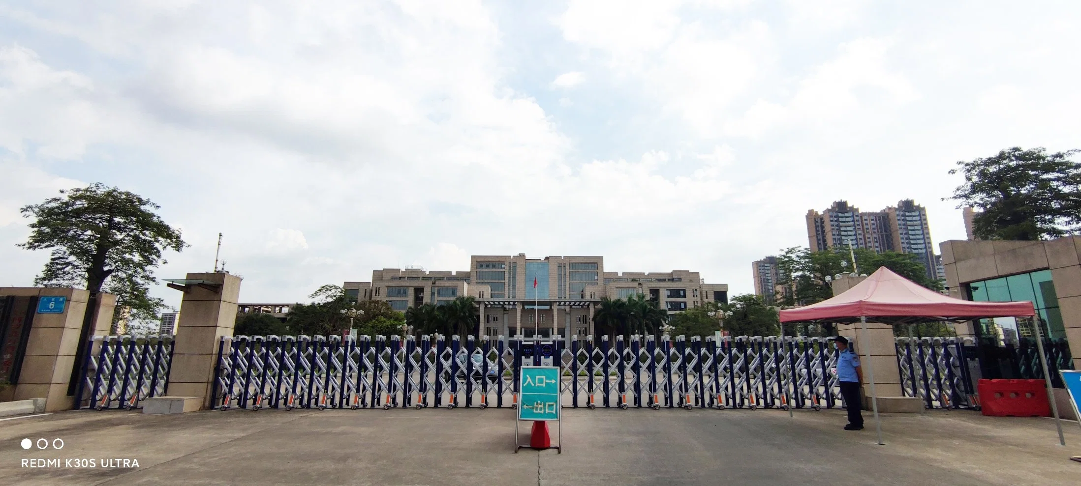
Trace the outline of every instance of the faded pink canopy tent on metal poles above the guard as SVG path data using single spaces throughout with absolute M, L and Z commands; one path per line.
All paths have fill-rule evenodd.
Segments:
M 831 299 L 796 309 L 783 309 L 780 323 L 788 322 L 835 322 L 863 323 L 863 333 L 867 333 L 867 321 L 883 324 L 915 324 L 921 322 L 964 322 L 989 318 L 1031 318 L 1036 315 L 1032 302 L 974 302 L 949 297 L 881 267 L 866 280 Z M 1033 326 L 1040 337 L 1039 325 Z M 1055 411 L 1057 423 L 1058 410 L 1054 397 L 1051 396 L 1051 378 L 1043 355 L 1042 339 L 1037 339 L 1040 361 L 1043 364 L 1043 376 L 1047 384 L 1049 400 Z M 868 361 L 868 377 L 871 386 L 871 404 L 875 409 L 875 423 L 878 428 L 879 444 L 882 443 L 882 427 L 878 417 L 878 397 L 875 395 L 875 370 Z M 1063 445 L 1062 426 L 1058 436 Z

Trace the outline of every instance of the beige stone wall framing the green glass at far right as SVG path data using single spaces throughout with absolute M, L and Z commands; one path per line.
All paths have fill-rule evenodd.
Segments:
M 964 284 L 1037 270 L 1051 270 L 1073 367 L 1081 369 L 1081 237 L 1050 241 L 964 241 L 940 244 L 950 296 L 965 298 Z M 958 335 L 975 336 L 973 323 Z

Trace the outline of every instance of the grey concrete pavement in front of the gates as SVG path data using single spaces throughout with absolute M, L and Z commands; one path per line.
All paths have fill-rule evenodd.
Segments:
M 843 423 L 837 410 L 798 410 L 792 419 L 779 410 L 564 409 L 566 448 L 559 455 L 515 454 L 513 411 L 505 409 L 67 411 L 0 421 L 0 478 L 13 485 L 983 486 L 1076 485 L 1081 477 L 1081 463 L 1068 460 L 1081 455 L 1076 422 L 1064 422 L 1068 447 L 1057 445 L 1054 422 L 1042 418 L 885 415 L 885 446 L 875 444 L 872 429 L 849 432 Z M 64 448 L 24 450 L 23 438 L 62 438 Z M 92 458 L 95 468 L 65 464 Z M 58 459 L 59 467 L 26 468 L 23 459 Z M 138 468 L 102 468 L 103 459 L 135 459 Z

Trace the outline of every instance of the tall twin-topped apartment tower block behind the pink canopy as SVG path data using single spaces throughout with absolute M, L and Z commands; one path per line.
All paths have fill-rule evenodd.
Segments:
M 939 279 L 927 211 L 910 199 L 877 212 L 860 212 L 848 201 L 836 201 L 826 211 L 808 211 L 808 242 L 812 252 L 853 246 L 876 253 L 886 251 L 916 255 L 927 276 Z

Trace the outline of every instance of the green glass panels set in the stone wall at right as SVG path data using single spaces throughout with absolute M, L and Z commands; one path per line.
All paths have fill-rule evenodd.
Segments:
M 1051 270 L 1040 270 L 1036 272 L 1022 273 L 1017 275 L 1002 276 L 999 279 L 984 280 L 967 284 L 972 300 L 979 302 L 1009 302 L 1028 300 L 1036 307 L 1043 323 L 1043 332 L 1051 338 L 1065 338 L 1066 330 L 1063 327 L 1063 314 L 1058 310 L 1058 297 L 1055 294 L 1055 284 L 1051 280 Z M 1019 323 L 1018 337 L 1031 336 L 1025 323 Z M 991 323 L 988 320 L 980 321 L 980 333 L 983 337 L 991 337 Z

